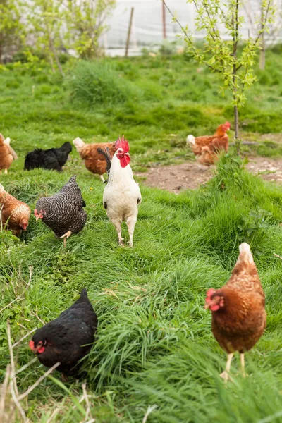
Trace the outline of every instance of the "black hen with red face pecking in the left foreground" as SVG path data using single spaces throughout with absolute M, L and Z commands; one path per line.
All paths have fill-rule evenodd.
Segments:
M 97 316 L 83 288 L 80 298 L 57 319 L 38 329 L 29 345 L 44 366 L 60 362 L 57 370 L 66 381 L 66 376 L 78 374 L 78 362 L 90 352 L 97 326 Z

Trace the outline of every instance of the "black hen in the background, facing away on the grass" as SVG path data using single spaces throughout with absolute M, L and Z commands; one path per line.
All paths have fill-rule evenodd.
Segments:
M 24 169 L 30 171 L 35 168 L 44 168 L 61 172 L 71 150 L 70 142 L 65 142 L 60 148 L 35 149 L 26 155 Z

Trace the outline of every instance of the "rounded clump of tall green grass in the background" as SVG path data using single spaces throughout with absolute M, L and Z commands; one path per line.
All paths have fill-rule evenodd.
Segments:
M 142 96 L 140 88 L 102 61 L 80 61 L 68 83 L 71 98 L 90 106 L 123 104 Z

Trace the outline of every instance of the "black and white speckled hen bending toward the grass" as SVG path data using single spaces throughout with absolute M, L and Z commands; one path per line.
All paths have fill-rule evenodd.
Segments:
M 35 217 L 36 220 L 42 219 L 54 231 L 56 237 L 63 238 L 63 244 L 66 246 L 66 238 L 72 233 L 82 231 L 85 226 L 85 206 L 76 176 L 73 176 L 59 192 L 37 201 Z

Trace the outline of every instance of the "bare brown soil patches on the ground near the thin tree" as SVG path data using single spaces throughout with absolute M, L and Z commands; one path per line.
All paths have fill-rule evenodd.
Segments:
M 282 183 L 282 160 L 267 157 L 252 157 L 247 169 L 260 175 L 264 180 Z M 161 188 L 178 194 L 180 190 L 194 190 L 199 185 L 207 183 L 213 176 L 213 167 L 210 168 L 190 161 L 170 166 L 155 166 L 145 173 L 135 173 L 142 177 L 149 187 Z

